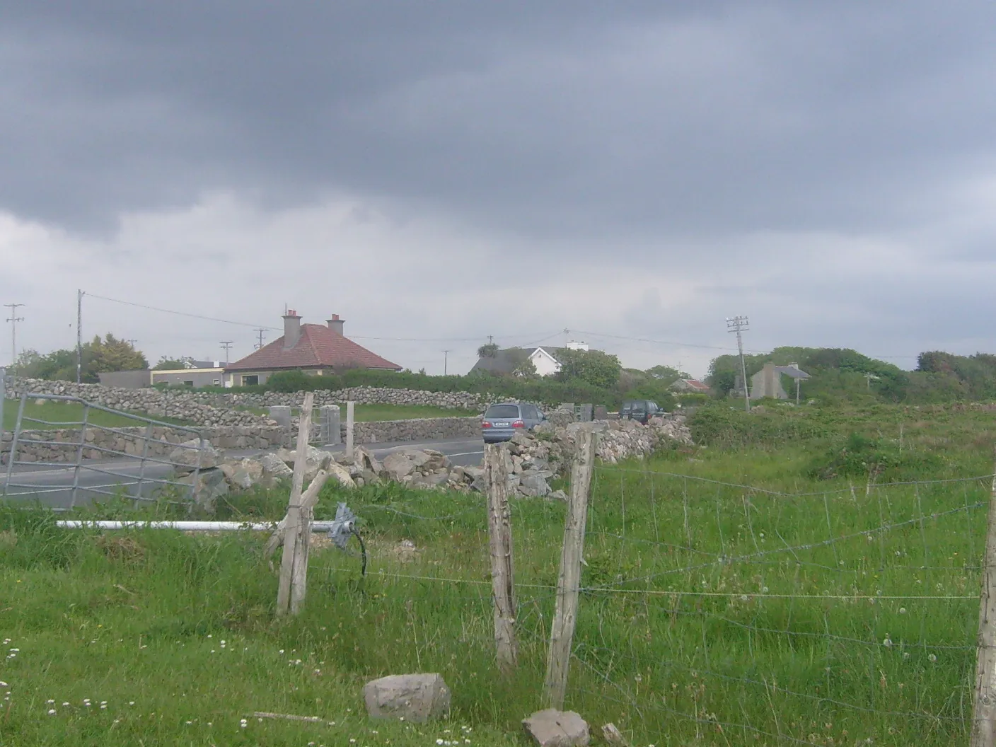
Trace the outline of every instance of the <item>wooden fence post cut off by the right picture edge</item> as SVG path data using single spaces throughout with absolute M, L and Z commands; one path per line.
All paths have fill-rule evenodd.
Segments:
M 989 528 L 982 564 L 979 637 L 975 654 L 971 747 L 996 745 L 996 477 L 989 496 Z

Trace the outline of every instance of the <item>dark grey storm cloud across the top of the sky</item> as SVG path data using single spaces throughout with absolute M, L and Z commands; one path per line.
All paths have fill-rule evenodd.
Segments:
M 535 236 L 910 225 L 994 156 L 978 2 L 9 3 L 0 207 L 336 190 Z

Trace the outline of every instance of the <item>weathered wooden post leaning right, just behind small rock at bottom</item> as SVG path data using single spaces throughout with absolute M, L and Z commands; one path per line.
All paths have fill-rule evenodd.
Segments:
M 550 650 L 547 654 L 547 678 L 544 686 L 548 706 L 557 710 L 564 708 L 574 627 L 578 620 L 581 563 L 585 553 L 585 525 L 588 523 L 588 496 L 595 467 L 596 440 L 594 431 L 578 431 L 578 452 L 571 468 L 571 496 L 564 523 L 564 549 L 561 552 L 557 606 L 550 629 Z

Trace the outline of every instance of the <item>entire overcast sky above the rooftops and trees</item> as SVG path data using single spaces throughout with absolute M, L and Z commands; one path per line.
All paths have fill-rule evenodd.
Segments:
M 85 299 L 153 363 L 285 305 L 429 373 L 996 352 L 994 89 L 984 0 L 0 1 L 0 303 L 244 325 Z

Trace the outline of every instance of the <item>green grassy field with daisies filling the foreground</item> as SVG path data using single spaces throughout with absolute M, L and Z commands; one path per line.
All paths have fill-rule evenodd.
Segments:
M 706 413 L 709 445 L 596 471 L 568 707 L 635 745 L 965 742 L 992 414 L 752 417 Z M 340 500 L 363 519 L 368 576 L 316 548 L 306 611 L 280 622 L 263 537 L 0 514 L 0 743 L 521 743 L 543 706 L 564 507 L 513 505 L 520 665 L 503 680 L 481 497 L 327 486 L 319 517 Z M 257 493 L 222 514 L 285 505 Z M 442 673 L 451 719 L 368 722 L 363 683 L 400 671 Z M 243 726 L 253 711 L 325 723 Z

